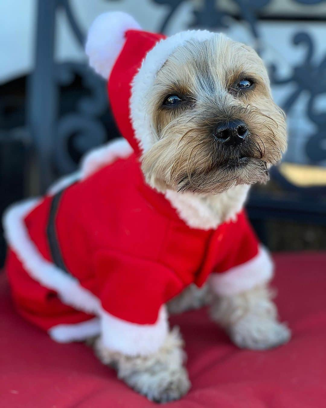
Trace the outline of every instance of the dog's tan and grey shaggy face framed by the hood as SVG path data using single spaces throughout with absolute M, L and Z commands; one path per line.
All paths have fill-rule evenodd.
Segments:
M 176 49 L 148 98 L 155 142 L 142 169 L 159 191 L 216 194 L 264 182 L 286 149 L 262 60 L 223 35 Z

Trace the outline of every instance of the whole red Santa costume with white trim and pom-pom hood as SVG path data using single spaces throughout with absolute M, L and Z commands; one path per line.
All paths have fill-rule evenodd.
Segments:
M 145 95 L 176 47 L 208 31 L 165 38 L 124 13 L 90 28 L 90 65 L 108 80 L 124 139 L 89 153 L 42 199 L 5 214 L 6 270 L 19 313 L 56 341 L 101 334 L 110 350 L 154 353 L 168 330 L 165 304 L 209 278 L 220 295 L 267 282 L 272 265 L 240 211 L 215 229 L 191 228 L 148 186 L 140 157 L 152 142 Z

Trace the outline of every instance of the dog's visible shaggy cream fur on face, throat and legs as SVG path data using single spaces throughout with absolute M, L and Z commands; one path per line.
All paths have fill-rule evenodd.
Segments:
M 251 89 L 236 89 L 242 79 L 253 82 Z M 164 106 L 169 95 L 178 95 L 182 102 Z M 232 219 L 242 208 L 249 185 L 266 182 L 269 166 L 286 149 L 284 114 L 271 99 L 262 61 L 255 51 L 224 35 L 189 40 L 175 49 L 143 97 L 154 135 L 141 158 L 145 179 L 165 193 L 191 227 L 216 228 Z M 225 146 L 214 138 L 216 127 L 231 120 L 244 121 L 249 130 L 239 146 Z M 170 302 L 169 310 L 199 307 L 211 297 L 208 286 L 191 287 Z M 277 320 L 267 288 L 215 295 L 211 316 L 239 347 L 264 349 L 290 337 L 289 329 Z M 132 388 L 166 402 L 189 389 L 181 347 L 180 336 L 172 331 L 160 350 L 148 357 L 113 353 L 101 339 L 95 350 Z

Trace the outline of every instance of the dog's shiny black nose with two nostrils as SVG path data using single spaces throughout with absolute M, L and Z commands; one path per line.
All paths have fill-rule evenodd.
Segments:
M 242 120 L 232 120 L 220 124 L 214 129 L 215 140 L 225 146 L 237 146 L 245 141 L 249 131 Z

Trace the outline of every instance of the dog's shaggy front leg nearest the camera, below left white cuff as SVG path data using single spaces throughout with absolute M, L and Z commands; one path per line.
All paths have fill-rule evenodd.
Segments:
M 101 338 L 94 345 L 102 363 L 117 370 L 118 377 L 130 387 L 156 402 L 179 399 L 190 388 L 188 374 L 183 367 L 185 352 L 177 329 L 166 337 L 163 346 L 148 356 L 130 357 L 112 352 L 103 346 Z

